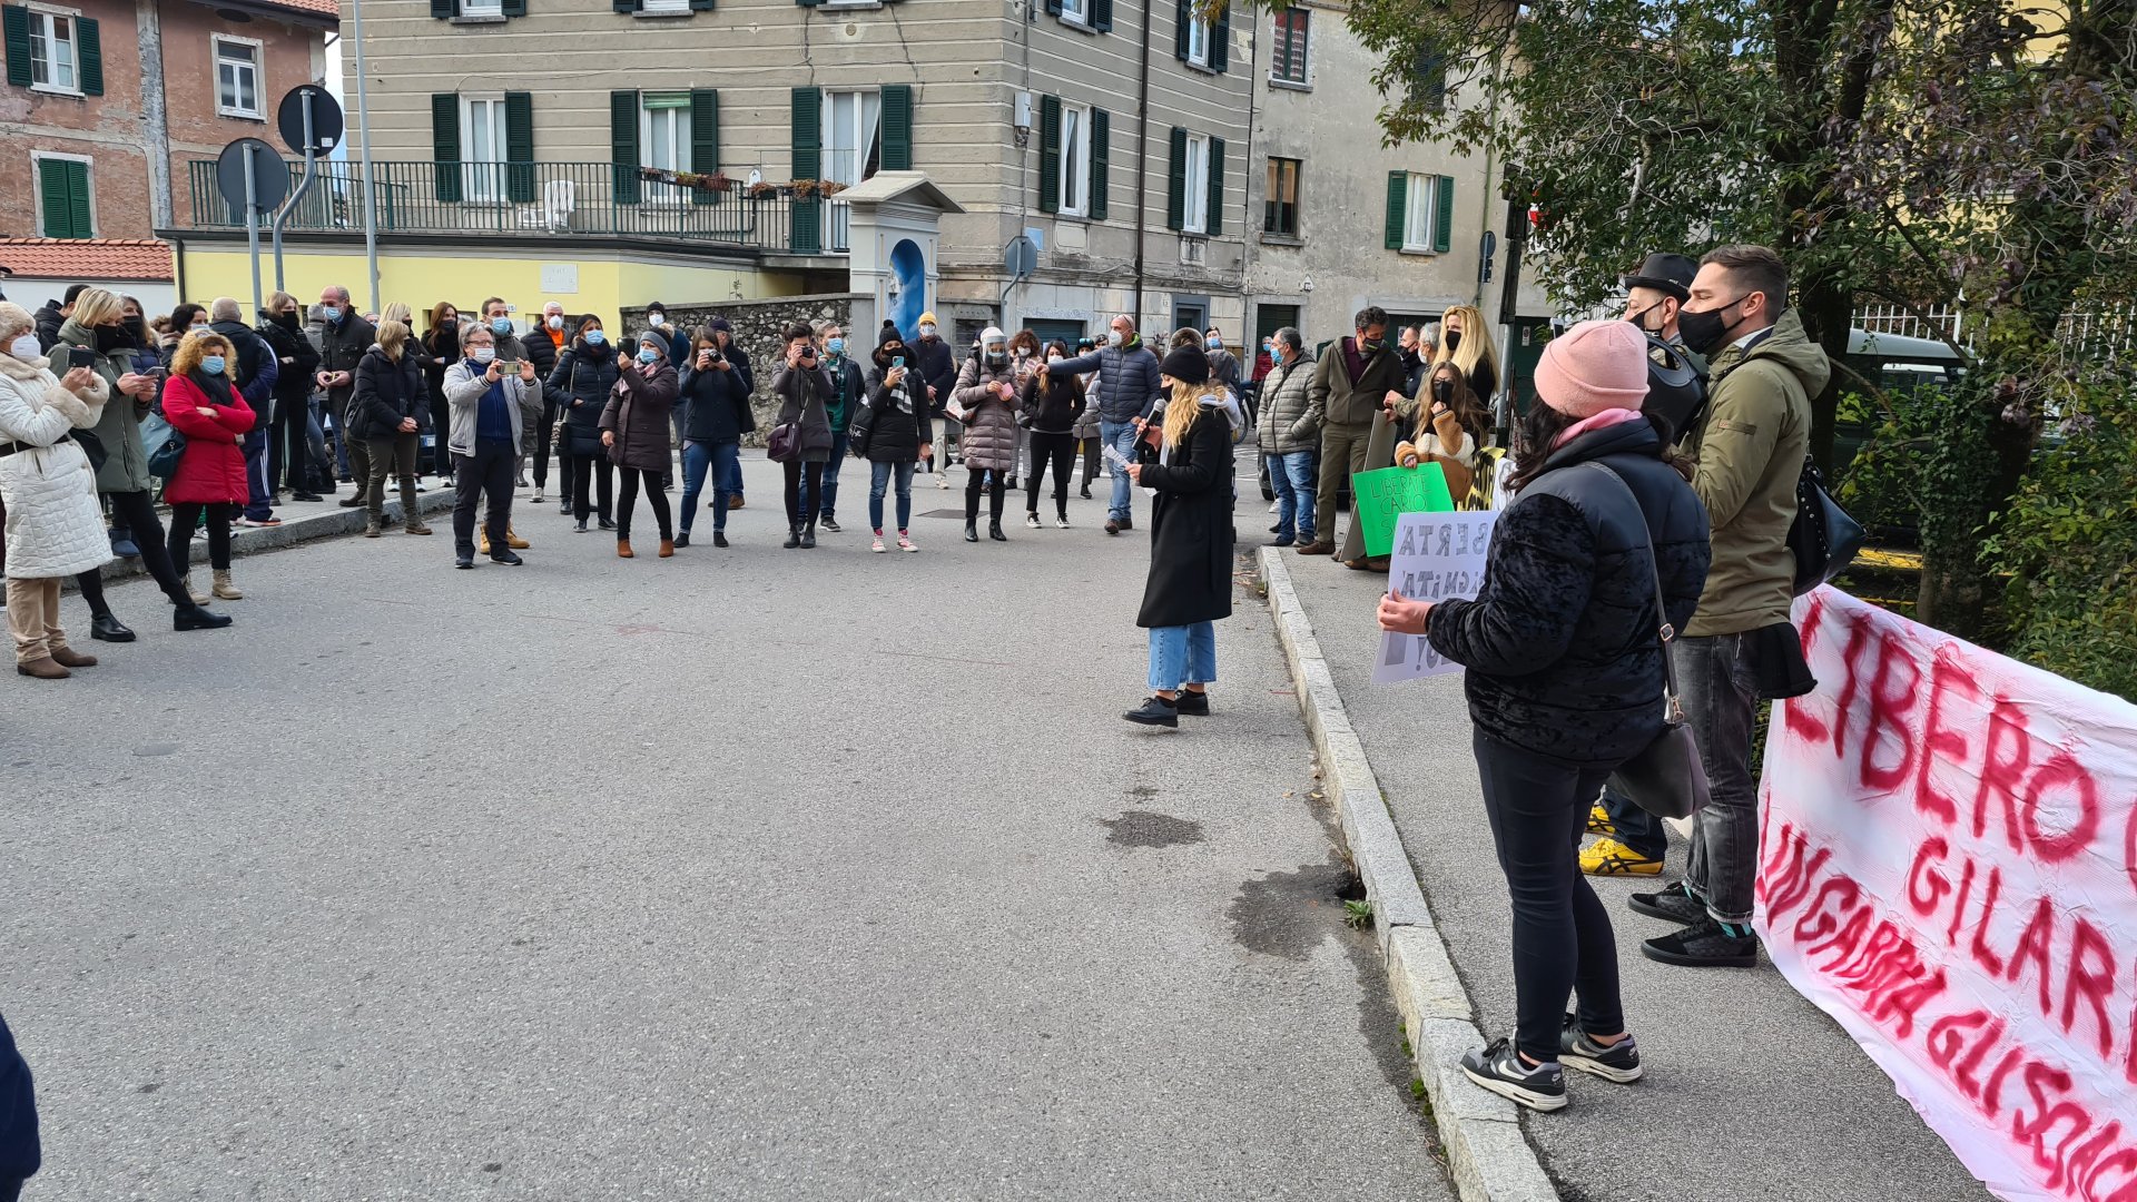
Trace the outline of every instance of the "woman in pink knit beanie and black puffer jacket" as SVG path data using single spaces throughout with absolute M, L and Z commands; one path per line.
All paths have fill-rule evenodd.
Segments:
M 1381 599 L 1381 629 L 1425 635 L 1468 667 L 1483 804 L 1513 896 L 1517 1027 L 1462 1072 L 1530 1110 L 1564 1108 L 1564 1067 L 1641 1074 L 1609 913 L 1577 851 L 1603 781 L 1663 734 L 1658 631 L 1690 620 L 1707 577 L 1707 513 L 1663 462 L 1645 396 L 1645 338 L 1631 323 L 1554 338 L 1477 599 Z

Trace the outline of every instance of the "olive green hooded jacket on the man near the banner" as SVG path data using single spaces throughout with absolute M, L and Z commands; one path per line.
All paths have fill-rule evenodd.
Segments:
M 1791 308 L 1750 349 L 1714 357 L 1707 411 L 1684 443 L 1693 492 L 1714 524 L 1714 567 L 1686 637 L 1759 631 L 1795 601 L 1795 481 L 1810 453 L 1810 398 L 1831 361 Z

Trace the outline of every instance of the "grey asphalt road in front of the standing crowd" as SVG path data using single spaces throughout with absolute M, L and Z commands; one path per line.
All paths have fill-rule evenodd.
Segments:
M 1143 731 L 1098 503 L 872 556 L 848 468 L 784 552 L 750 481 L 727 552 L 336 539 L 192 635 L 124 584 L 139 644 L 11 682 L 26 1198 L 1449 1198 L 1252 592 Z

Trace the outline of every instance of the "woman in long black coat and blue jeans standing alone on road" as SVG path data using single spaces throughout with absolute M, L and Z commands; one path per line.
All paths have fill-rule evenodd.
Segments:
M 1210 383 L 1210 359 L 1180 346 L 1165 357 L 1169 389 L 1156 451 L 1137 438 L 1143 462 L 1124 471 L 1156 492 L 1150 513 L 1150 577 L 1135 625 L 1150 629 L 1150 697 L 1122 714 L 1148 727 L 1177 727 L 1180 714 L 1210 714 L 1216 680 L 1216 620 L 1231 616 L 1231 419 L 1229 391 Z

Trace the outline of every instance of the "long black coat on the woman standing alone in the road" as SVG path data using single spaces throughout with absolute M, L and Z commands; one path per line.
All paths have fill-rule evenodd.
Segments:
M 1150 577 L 1137 627 L 1186 627 L 1231 616 L 1231 423 L 1203 406 L 1169 464 L 1143 464 Z

